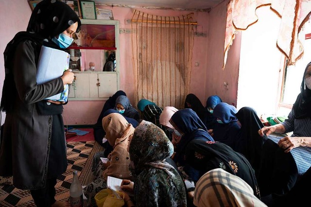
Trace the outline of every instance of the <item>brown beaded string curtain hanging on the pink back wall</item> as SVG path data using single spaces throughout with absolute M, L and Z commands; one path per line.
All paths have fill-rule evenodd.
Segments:
M 189 92 L 193 48 L 192 14 L 160 17 L 134 11 L 132 17 L 135 101 L 182 108 Z

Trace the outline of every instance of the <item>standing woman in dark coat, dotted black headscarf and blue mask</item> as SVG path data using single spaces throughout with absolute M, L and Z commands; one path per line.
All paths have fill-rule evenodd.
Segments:
M 42 0 L 29 21 L 4 51 L 5 80 L 1 110 L 6 112 L 0 149 L 0 175 L 13 175 L 18 189 L 30 190 L 38 207 L 61 206 L 55 201 L 57 176 L 67 169 L 62 102 L 44 99 L 61 93 L 73 81 L 69 70 L 48 83 L 37 84 L 41 46 L 64 50 L 81 26 L 64 2 Z M 2 133 L 2 132 L 1 132 Z

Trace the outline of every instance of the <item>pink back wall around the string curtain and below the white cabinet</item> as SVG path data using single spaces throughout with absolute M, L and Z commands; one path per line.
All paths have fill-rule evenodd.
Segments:
M 125 24 L 125 19 L 131 19 L 133 9 L 120 7 L 107 7 L 113 11 L 114 19 L 120 20 L 120 28 L 131 28 L 130 24 Z M 181 16 L 189 12 L 139 9 L 158 16 Z M 194 19 L 198 22 L 198 32 L 207 32 L 208 13 L 195 12 Z M 205 76 L 207 69 L 207 37 L 195 37 L 192 57 L 192 74 L 190 83 L 190 93 L 195 93 L 204 103 L 205 97 Z M 121 90 L 125 91 L 133 106 L 134 103 L 134 73 L 132 64 L 132 35 L 120 34 L 120 80 Z M 199 67 L 194 67 L 194 62 L 199 63 Z M 67 124 L 94 124 L 102 111 L 103 101 L 71 101 L 64 106 L 64 122 Z M 83 109 L 83 110 L 81 110 Z M 76 113 L 79 111 L 79 113 Z M 74 116 L 72 116 L 74 114 Z

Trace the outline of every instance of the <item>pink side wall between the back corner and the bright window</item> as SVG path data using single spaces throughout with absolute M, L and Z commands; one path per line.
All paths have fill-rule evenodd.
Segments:
M 223 1 L 209 12 L 208 50 L 205 102 L 208 96 L 218 95 L 228 104 L 237 102 L 241 35 L 236 35 L 228 52 L 223 70 L 225 22 L 228 0 Z M 227 90 L 224 82 L 228 84 Z

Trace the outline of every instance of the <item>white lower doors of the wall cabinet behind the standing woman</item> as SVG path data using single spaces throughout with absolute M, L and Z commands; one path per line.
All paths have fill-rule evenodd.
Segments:
M 69 86 L 69 100 L 107 100 L 118 90 L 117 72 L 75 72 Z

